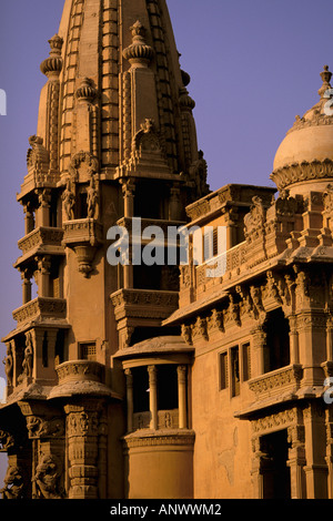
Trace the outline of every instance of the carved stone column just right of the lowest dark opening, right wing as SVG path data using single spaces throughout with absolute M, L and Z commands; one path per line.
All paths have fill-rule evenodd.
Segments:
M 291 474 L 291 499 L 306 499 L 304 426 L 290 427 L 287 437 L 291 443 L 287 460 Z

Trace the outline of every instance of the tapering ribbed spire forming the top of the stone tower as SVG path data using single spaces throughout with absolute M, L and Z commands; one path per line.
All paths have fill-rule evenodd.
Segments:
M 190 174 L 199 159 L 195 103 L 186 90 L 190 76 L 180 68 L 165 0 L 67 0 L 50 45 L 41 70 L 50 79 L 56 74 L 61 85 L 59 180 L 81 151 L 94 155 L 110 180 L 127 172 L 135 134 L 150 119 L 169 174 L 182 174 L 195 184 Z M 95 91 L 93 99 L 81 96 L 82 82 Z M 47 89 L 41 93 L 38 135 L 48 149 Z M 87 103 L 83 127 L 75 125 L 83 112 L 79 101 Z

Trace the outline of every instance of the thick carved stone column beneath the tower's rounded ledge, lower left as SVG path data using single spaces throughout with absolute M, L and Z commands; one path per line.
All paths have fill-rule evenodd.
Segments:
M 69 499 L 99 499 L 99 400 L 67 405 Z

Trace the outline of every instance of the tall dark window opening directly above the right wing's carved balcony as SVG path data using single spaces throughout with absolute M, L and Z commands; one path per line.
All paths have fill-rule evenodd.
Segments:
M 281 308 L 270 311 L 266 320 L 268 357 L 265 372 L 290 364 L 290 327 Z

